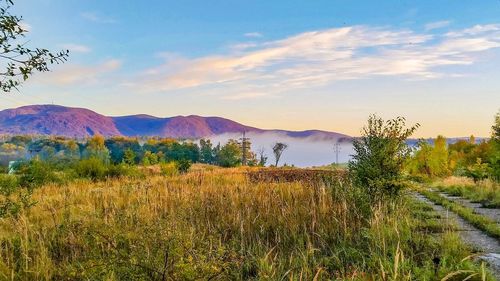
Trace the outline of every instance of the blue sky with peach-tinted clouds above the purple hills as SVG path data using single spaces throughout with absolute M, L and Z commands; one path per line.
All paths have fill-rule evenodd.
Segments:
M 221 116 L 352 136 L 372 113 L 416 137 L 489 136 L 500 1 L 24 0 L 29 46 L 70 50 L 0 109 Z

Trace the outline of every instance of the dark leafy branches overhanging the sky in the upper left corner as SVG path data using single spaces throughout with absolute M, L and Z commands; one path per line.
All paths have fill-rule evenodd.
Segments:
M 22 17 L 12 15 L 10 8 L 13 0 L 0 0 L 0 60 L 3 71 L 0 73 L 0 89 L 10 92 L 26 81 L 35 71 L 49 71 L 50 64 L 67 60 L 69 51 L 51 53 L 43 48 L 28 48 L 22 42 L 28 30 L 23 28 Z

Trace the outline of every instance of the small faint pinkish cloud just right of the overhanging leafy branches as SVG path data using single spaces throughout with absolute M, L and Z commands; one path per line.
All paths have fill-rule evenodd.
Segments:
M 103 76 L 118 70 L 122 65 L 120 60 L 107 60 L 97 65 L 67 64 L 53 72 L 35 76 L 40 83 L 57 86 L 97 84 L 103 81 Z

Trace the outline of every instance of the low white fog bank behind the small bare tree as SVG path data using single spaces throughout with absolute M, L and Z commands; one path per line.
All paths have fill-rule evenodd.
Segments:
M 346 163 L 353 154 L 352 143 L 345 139 L 292 138 L 277 133 L 248 133 L 246 137 L 250 138 L 252 151 L 257 153 L 259 148 L 264 148 L 268 157 L 267 165 L 274 164 L 272 146 L 276 142 L 288 144 L 287 150 L 281 156 L 280 166 L 286 163 L 297 167 L 312 167 L 335 163 L 334 145 L 337 141 L 340 144 L 339 163 Z M 210 137 L 210 140 L 217 145 L 224 144 L 229 139 L 239 138 L 241 134 L 223 134 Z

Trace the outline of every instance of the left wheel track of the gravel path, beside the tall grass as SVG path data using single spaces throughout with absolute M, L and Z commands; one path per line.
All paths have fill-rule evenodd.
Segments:
M 458 226 L 458 233 L 462 240 L 477 249 L 483 254 L 479 256 L 480 259 L 485 260 L 489 263 L 490 269 L 497 278 L 500 280 L 500 242 L 486 235 L 481 230 L 477 229 L 457 214 L 447 210 L 441 205 L 436 205 L 434 202 L 427 199 L 421 194 L 415 194 L 415 197 L 432 206 L 432 208 L 445 220 L 444 223 L 455 222 Z

